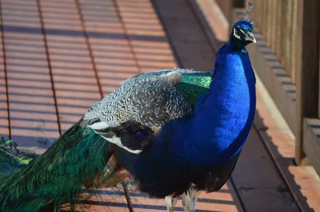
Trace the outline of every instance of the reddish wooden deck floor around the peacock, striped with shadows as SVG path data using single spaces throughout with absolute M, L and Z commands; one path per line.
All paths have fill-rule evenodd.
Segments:
M 0 2 L 0 134 L 38 152 L 126 78 L 211 71 L 222 44 L 193 0 Z M 216 38 L 228 31 L 215 26 Z M 318 182 L 293 164 L 294 137 L 268 98 L 258 79 L 257 115 L 236 169 L 219 192 L 200 195 L 196 211 L 320 211 Z M 128 211 L 122 193 L 100 194 L 86 201 L 90 211 Z M 164 200 L 131 198 L 136 212 L 166 211 Z M 181 198 L 175 210 L 183 211 Z

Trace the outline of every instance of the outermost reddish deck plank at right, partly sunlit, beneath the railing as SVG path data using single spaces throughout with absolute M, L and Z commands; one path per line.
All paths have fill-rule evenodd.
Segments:
M 312 166 L 294 164 L 295 137 L 260 77 L 256 75 L 256 78 L 257 111 L 254 126 L 302 211 L 318 211 L 320 178 Z

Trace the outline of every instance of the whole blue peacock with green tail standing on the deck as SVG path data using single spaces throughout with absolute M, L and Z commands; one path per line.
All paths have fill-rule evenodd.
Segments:
M 84 191 L 131 176 L 174 210 L 195 211 L 200 191 L 232 173 L 255 114 L 255 75 L 245 46 L 256 42 L 248 14 L 236 22 L 213 72 L 138 73 L 92 106 L 42 155 L 0 177 L 1 211 L 59 211 Z

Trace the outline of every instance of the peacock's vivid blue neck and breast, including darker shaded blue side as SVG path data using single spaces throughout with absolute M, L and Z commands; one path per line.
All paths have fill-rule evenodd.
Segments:
M 255 113 L 255 77 L 249 55 L 226 44 L 216 56 L 209 91 L 191 117 L 177 120 L 174 154 L 197 163 L 223 164 L 247 140 Z M 177 142 L 177 141 L 181 141 Z

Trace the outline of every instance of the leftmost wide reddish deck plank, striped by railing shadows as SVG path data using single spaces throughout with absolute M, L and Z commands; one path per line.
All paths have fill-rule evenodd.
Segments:
M 34 0 L 2 0 L 12 139 L 47 148 L 59 136 L 51 77 Z

